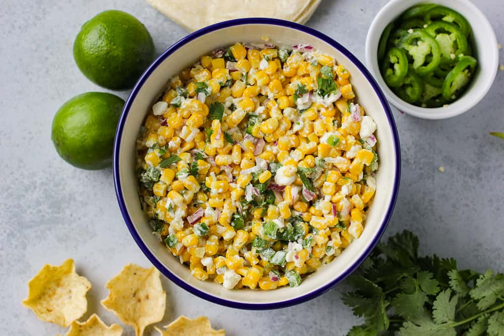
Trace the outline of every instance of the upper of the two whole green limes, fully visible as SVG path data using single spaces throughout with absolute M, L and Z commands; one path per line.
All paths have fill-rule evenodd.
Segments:
M 134 16 L 105 11 L 86 22 L 74 42 L 74 58 L 94 83 L 131 89 L 154 57 L 154 42 Z

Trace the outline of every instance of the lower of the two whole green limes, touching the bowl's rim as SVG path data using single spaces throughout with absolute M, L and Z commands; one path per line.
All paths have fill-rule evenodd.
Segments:
M 51 139 L 59 156 L 82 169 L 112 163 L 115 129 L 124 100 L 104 92 L 75 96 L 52 120 Z

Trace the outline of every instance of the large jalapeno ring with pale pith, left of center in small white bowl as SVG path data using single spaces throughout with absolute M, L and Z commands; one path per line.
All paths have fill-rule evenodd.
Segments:
M 413 69 L 424 76 L 433 72 L 439 65 L 441 50 L 437 41 L 427 32 L 417 29 L 399 41 L 399 48 L 408 51 L 413 58 Z

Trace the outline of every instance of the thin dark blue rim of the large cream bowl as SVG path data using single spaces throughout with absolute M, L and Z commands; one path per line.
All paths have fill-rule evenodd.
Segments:
M 369 84 L 372 86 L 374 92 L 380 99 L 380 102 L 382 104 L 382 107 L 385 110 L 385 114 L 387 115 L 387 119 L 389 121 L 389 125 L 392 131 L 392 138 L 393 138 L 393 143 L 394 143 L 394 149 L 395 149 L 395 156 L 396 156 L 396 176 L 394 179 L 394 187 L 393 187 L 393 193 L 392 193 L 392 198 L 390 200 L 389 208 L 387 209 L 387 213 L 385 215 L 385 219 L 380 225 L 380 229 L 376 236 L 373 238 L 371 244 L 367 247 L 367 249 L 362 253 L 362 255 L 355 261 L 350 267 L 348 267 L 345 272 L 343 272 L 340 276 L 338 276 L 336 279 L 332 280 L 330 283 L 313 290 L 307 294 L 304 294 L 299 297 L 295 297 L 293 299 L 285 300 L 285 301 L 279 301 L 279 302 L 272 302 L 272 303 L 244 303 L 244 302 L 239 302 L 239 301 L 231 301 L 231 300 L 225 300 L 220 297 L 208 294 L 204 291 L 201 291 L 188 283 L 184 282 L 183 280 L 179 279 L 176 275 L 171 273 L 168 268 L 166 268 L 155 256 L 147 245 L 144 243 L 140 235 L 138 234 L 137 230 L 135 229 L 135 226 L 130 218 L 130 215 L 128 214 L 128 210 L 126 209 L 126 205 L 124 203 L 124 198 L 122 197 L 122 189 L 120 185 L 120 178 L 119 178 L 119 148 L 120 148 L 120 139 L 122 137 L 122 130 L 124 128 L 124 123 L 128 117 L 128 113 L 131 109 L 131 106 L 133 104 L 133 101 L 137 97 L 137 94 L 139 93 L 140 89 L 146 82 L 146 80 L 150 77 L 153 71 L 156 70 L 156 68 L 168 57 L 170 56 L 173 52 L 175 52 L 177 49 L 182 47 L 183 45 L 190 43 L 191 41 L 195 40 L 196 38 L 203 36 L 207 33 L 223 29 L 223 28 L 228 28 L 232 26 L 240 26 L 240 25 L 248 25 L 248 24 L 266 24 L 266 25 L 276 25 L 276 26 L 282 26 L 282 27 L 287 27 L 291 29 L 296 29 L 299 30 L 303 33 L 307 33 L 309 35 L 312 35 L 313 37 L 319 38 L 332 47 L 336 48 L 339 50 L 341 53 L 343 53 L 350 61 L 352 61 L 359 71 L 364 75 L 366 80 L 369 82 Z M 213 303 L 217 303 L 223 306 L 228 306 L 231 308 L 238 308 L 238 309 L 249 309 L 249 310 L 267 310 L 267 309 L 277 309 L 277 308 L 284 308 L 284 307 L 289 307 L 293 306 L 311 299 L 314 299 L 330 289 L 332 289 L 334 286 L 338 285 L 340 282 L 342 282 L 346 277 L 348 277 L 351 273 L 353 273 L 356 268 L 364 261 L 364 259 L 371 253 L 371 250 L 374 248 L 374 246 L 378 243 L 380 238 L 382 237 L 383 233 L 385 232 L 385 229 L 387 228 L 387 225 L 390 221 L 390 218 L 392 216 L 392 212 L 394 210 L 394 206 L 396 204 L 397 200 L 397 194 L 399 190 L 399 182 L 400 182 L 400 177 L 401 177 L 401 151 L 400 151 L 400 144 L 399 144 L 399 135 L 397 132 L 397 127 L 396 123 L 392 114 L 392 111 L 390 109 L 390 106 L 387 102 L 387 99 L 385 98 L 385 95 L 383 94 L 382 90 L 372 77 L 372 75 L 369 73 L 369 71 L 365 68 L 364 64 L 362 64 L 350 51 L 348 51 L 345 47 L 343 47 L 341 44 L 330 38 L 329 36 L 314 30 L 312 28 L 290 22 L 290 21 L 285 21 L 285 20 L 279 20 L 279 19 L 271 19 L 271 18 L 246 18 L 246 19 L 234 19 L 234 20 L 229 20 L 229 21 L 224 21 L 220 23 L 213 24 L 211 26 L 202 28 L 200 30 L 195 31 L 194 33 L 191 33 L 182 39 L 178 40 L 174 44 L 172 44 L 168 49 L 166 49 L 150 66 L 147 68 L 147 70 L 144 72 L 144 74 L 140 77 L 138 80 L 137 84 L 133 88 L 132 92 L 130 93 L 130 96 L 128 97 L 128 100 L 124 104 L 124 108 L 122 110 L 121 116 L 119 118 L 119 123 L 117 126 L 117 131 L 115 134 L 115 142 L 114 142 L 114 153 L 113 153 L 113 175 L 114 175 L 114 185 L 115 185 L 115 193 L 117 196 L 117 201 L 119 203 L 119 209 L 122 213 L 122 217 L 124 218 L 124 221 L 133 236 L 133 239 L 137 243 L 137 245 L 140 247 L 142 252 L 147 256 L 147 258 L 156 266 L 156 268 L 163 274 L 165 275 L 168 279 L 170 279 L 173 283 L 175 283 L 177 286 L 183 288 L 184 290 Z

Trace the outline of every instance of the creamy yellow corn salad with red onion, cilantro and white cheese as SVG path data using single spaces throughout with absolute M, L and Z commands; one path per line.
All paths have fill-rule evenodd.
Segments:
M 375 130 L 330 55 L 236 43 L 170 78 L 149 111 L 141 206 L 197 279 L 299 286 L 364 229 Z

